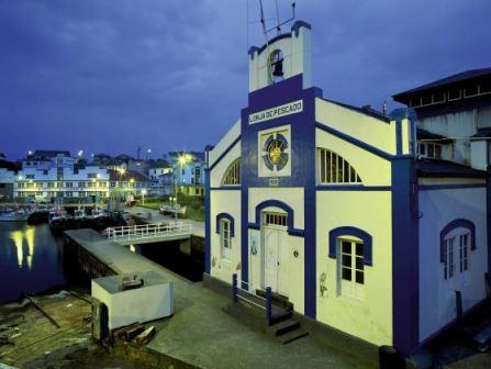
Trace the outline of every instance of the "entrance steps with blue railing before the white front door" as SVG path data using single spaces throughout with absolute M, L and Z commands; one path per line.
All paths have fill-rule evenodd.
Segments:
M 271 320 L 268 324 L 265 315 L 266 301 L 263 298 L 264 291 L 256 291 L 256 293 L 257 295 L 244 290 L 238 290 L 238 294 L 242 298 L 247 299 L 249 302 L 239 299 L 238 302 L 232 303 L 232 305 L 224 309 L 224 311 L 231 315 L 239 317 L 243 322 L 249 321 L 249 323 L 253 323 L 250 320 L 256 320 L 256 324 L 253 324 L 255 327 L 259 327 L 263 332 L 274 336 L 275 339 L 283 345 L 309 334 L 300 326 L 300 322 L 292 317 L 293 305 L 291 302 L 280 295 L 274 294 L 272 297 Z

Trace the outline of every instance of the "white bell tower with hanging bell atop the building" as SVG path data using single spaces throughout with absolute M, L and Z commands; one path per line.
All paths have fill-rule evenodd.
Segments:
M 291 32 L 249 48 L 249 92 L 303 75 L 303 88 L 312 87 L 311 25 L 297 21 Z

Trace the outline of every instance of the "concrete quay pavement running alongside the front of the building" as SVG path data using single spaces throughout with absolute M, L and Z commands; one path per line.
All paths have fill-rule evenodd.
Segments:
M 203 369 L 378 368 L 376 358 L 347 353 L 343 343 L 326 345 L 313 335 L 278 344 L 225 313 L 222 309 L 231 299 L 202 282 L 190 282 L 94 231 L 68 231 L 66 236 L 68 247 L 76 247 L 77 255 L 85 255 L 81 261 L 91 264 L 83 268 L 92 277 L 153 270 L 174 281 L 175 314 L 161 324 L 149 350 Z

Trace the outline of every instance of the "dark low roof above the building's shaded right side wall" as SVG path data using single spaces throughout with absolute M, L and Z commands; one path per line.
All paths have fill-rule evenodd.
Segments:
M 420 177 L 486 177 L 486 171 L 483 170 L 473 169 L 461 164 L 442 159 L 417 159 L 416 170 Z

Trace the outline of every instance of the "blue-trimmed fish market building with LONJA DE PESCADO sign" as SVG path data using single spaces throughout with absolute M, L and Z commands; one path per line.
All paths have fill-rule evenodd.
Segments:
M 248 104 L 207 150 L 207 278 L 411 355 L 456 290 L 465 311 L 486 298 L 487 174 L 419 160 L 412 109 L 324 98 L 311 56 L 301 21 L 249 51 Z

